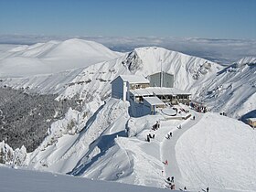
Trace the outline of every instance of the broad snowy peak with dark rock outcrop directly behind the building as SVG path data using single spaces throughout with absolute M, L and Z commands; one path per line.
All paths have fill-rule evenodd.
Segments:
M 165 48 L 135 48 L 123 61 L 135 74 L 145 77 L 161 69 L 175 75 L 175 87 L 190 91 L 195 84 L 202 84 L 223 69 L 217 63 L 207 59 L 189 56 Z M 194 93 L 194 91 L 193 91 Z

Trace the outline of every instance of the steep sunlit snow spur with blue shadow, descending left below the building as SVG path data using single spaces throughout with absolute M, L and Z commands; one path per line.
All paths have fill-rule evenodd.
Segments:
M 111 100 L 89 119 L 88 109 L 83 115 L 69 111 L 64 119 L 52 123 L 48 137 L 27 157 L 28 165 L 60 173 L 74 169 L 74 175 L 83 174 L 88 164 L 112 146 L 116 135 L 125 133 L 129 118 L 127 104 Z M 75 128 L 70 129 L 72 127 Z

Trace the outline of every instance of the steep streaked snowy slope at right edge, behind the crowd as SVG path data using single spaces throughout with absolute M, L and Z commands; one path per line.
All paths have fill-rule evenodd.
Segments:
M 255 111 L 256 58 L 240 59 L 208 81 L 208 85 L 197 91 L 196 98 L 206 102 L 212 111 L 226 112 L 235 118 Z

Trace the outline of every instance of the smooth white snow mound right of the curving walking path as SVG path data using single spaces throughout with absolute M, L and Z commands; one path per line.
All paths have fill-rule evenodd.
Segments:
M 189 188 L 256 190 L 256 132 L 244 123 L 207 113 L 176 143 L 181 181 Z

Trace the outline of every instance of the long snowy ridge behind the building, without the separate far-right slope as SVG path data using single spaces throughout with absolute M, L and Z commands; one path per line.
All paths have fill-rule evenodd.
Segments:
M 199 59 L 165 48 L 149 47 L 136 48 L 133 52 L 118 59 L 101 62 L 84 69 L 66 70 L 52 75 L 37 75 L 21 79 L 3 79 L 1 84 L 16 89 L 29 87 L 29 90 L 39 93 L 61 92 L 61 98 L 71 98 L 76 94 L 82 97 L 82 91 L 89 91 L 93 88 L 90 92 L 102 95 L 108 90 L 107 93 L 110 94 L 110 82 L 118 75 L 135 73 L 147 76 L 153 74 L 161 70 L 161 60 L 163 70 L 175 74 L 175 87 L 187 91 L 192 90 L 192 87 L 200 88 L 208 79 L 215 77 L 219 69 L 222 69 L 217 63 L 206 59 Z M 63 86 L 66 87 L 63 88 Z

